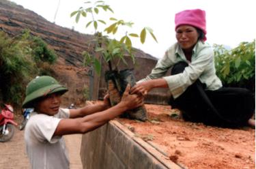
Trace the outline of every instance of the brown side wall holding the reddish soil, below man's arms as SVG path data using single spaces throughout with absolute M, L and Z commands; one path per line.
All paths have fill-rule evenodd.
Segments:
M 84 169 L 180 169 L 115 120 L 83 135 L 81 160 Z

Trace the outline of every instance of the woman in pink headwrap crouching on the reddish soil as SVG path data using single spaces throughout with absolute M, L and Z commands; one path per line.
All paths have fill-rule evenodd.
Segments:
M 131 92 L 146 95 L 153 88 L 166 87 L 173 97 L 171 106 L 179 108 L 187 121 L 221 127 L 248 124 L 255 110 L 253 94 L 246 89 L 225 88 L 216 76 L 214 52 L 205 44 L 205 11 L 177 13 L 175 32 L 177 43 Z M 169 68 L 171 76 L 163 77 Z

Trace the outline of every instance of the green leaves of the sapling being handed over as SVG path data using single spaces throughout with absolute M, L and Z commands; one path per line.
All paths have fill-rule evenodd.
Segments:
M 102 32 L 98 32 L 98 23 L 106 25 L 105 20 L 96 19 L 95 16 L 98 16 L 100 10 L 104 10 L 104 12 L 113 12 L 109 5 L 106 5 L 104 1 L 96 1 L 95 3 L 91 3 L 91 1 L 85 2 L 88 7 L 80 7 L 79 10 L 76 10 L 70 14 L 70 17 L 76 16 L 76 22 L 79 22 L 81 16 L 87 18 L 87 16 L 91 16 L 91 20 L 89 20 L 86 24 L 86 28 L 89 27 L 92 23 L 94 23 L 94 30 L 96 35 L 95 42 L 95 51 L 96 53 L 100 53 L 100 56 L 104 58 L 104 61 L 109 64 L 109 70 L 112 69 L 111 63 L 115 58 L 118 59 L 117 64 L 115 65 L 115 69 L 119 65 L 119 61 L 122 61 L 126 64 L 126 60 L 124 56 L 128 56 L 132 58 L 134 63 L 134 55 L 132 54 L 132 38 L 140 37 L 141 44 L 145 43 L 147 32 L 153 37 L 153 39 L 157 42 L 156 37 L 153 33 L 153 30 L 150 27 L 144 27 L 141 29 L 141 33 L 128 33 L 126 31 L 125 35 L 120 38 L 120 40 L 109 40 L 108 36 L 102 35 Z M 112 22 L 111 25 L 104 29 L 106 34 L 115 35 L 120 27 L 132 28 L 134 25 L 133 22 L 126 22 L 124 20 L 117 20 L 116 18 L 109 18 Z M 84 56 L 84 65 L 93 66 L 98 74 L 100 74 L 101 65 L 100 61 L 91 55 L 91 53 L 85 51 L 83 52 Z

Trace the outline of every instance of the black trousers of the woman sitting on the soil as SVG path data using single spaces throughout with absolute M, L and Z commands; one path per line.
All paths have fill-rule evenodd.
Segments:
M 179 74 L 188 64 L 179 62 L 171 74 Z M 186 121 L 201 122 L 220 127 L 246 125 L 255 111 L 255 98 L 247 89 L 222 87 L 216 91 L 205 90 L 205 84 L 196 80 L 182 95 L 170 102 L 182 111 Z

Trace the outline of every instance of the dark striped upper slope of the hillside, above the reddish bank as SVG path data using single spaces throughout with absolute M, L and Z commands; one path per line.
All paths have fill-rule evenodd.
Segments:
M 59 57 L 66 61 L 67 65 L 81 66 L 83 50 L 90 50 L 88 44 L 93 38 L 86 35 L 60 27 L 49 22 L 33 11 L 27 10 L 11 1 L 0 0 L 0 30 L 9 35 L 17 35 L 23 29 L 30 29 L 33 35 L 42 39 L 53 48 Z M 137 57 L 154 57 L 137 51 Z

